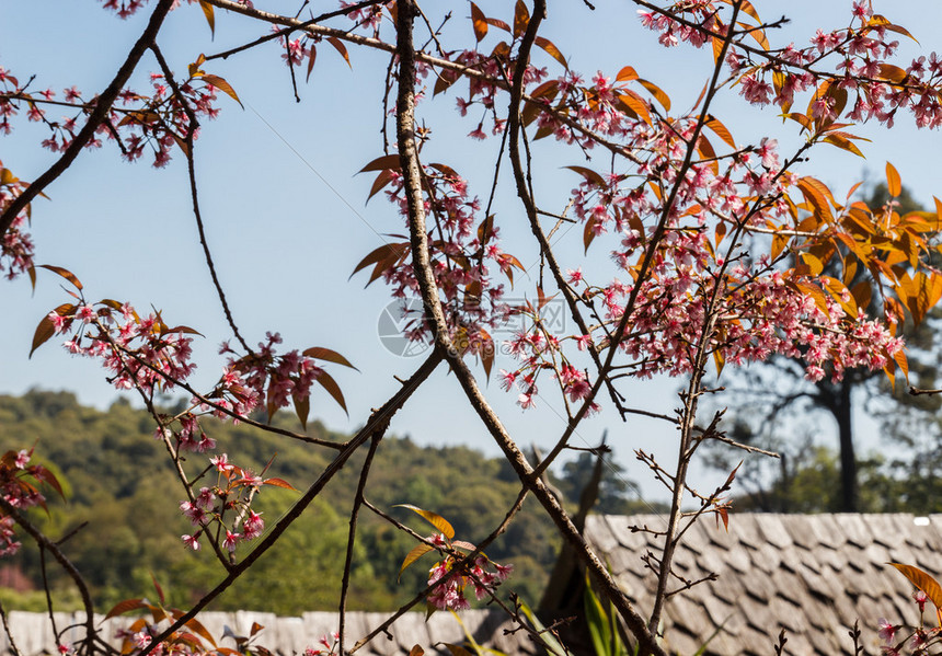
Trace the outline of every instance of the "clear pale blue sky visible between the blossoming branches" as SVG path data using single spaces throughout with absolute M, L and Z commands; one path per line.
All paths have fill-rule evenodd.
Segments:
M 782 45 L 806 43 L 818 26 L 846 25 L 851 4 L 836 0 L 754 3 L 767 20 L 778 18 L 783 8 L 791 12 L 795 20 L 785 35 L 773 36 Z M 292 12 L 297 3 L 255 4 Z M 489 15 L 510 7 L 508 2 L 480 4 Z M 597 70 L 614 76 L 631 65 L 667 90 L 675 107 L 692 104 L 706 81 L 711 54 L 686 47 L 665 50 L 653 33 L 640 26 L 630 3 L 599 0 L 596 4 L 595 12 L 578 0 L 550 5 L 545 34 L 570 56 L 572 68 L 586 76 Z M 907 26 L 920 39 L 923 54 L 942 50 L 940 3 L 874 0 L 873 5 L 877 13 Z M 332 7 L 321 0 L 312 3 L 313 11 Z M 453 30 L 470 45 L 470 27 L 463 20 L 468 5 L 455 3 L 453 11 Z M 87 92 L 101 90 L 147 15 L 145 10 L 122 22 L 93 0 L 5 0 L 0 3 L 0 66 L 21 79 L 35 73 L 36 89 L 51 87 L 60 92 L 77 84 Z M 199 53 L 221 51 L 264 33 L 245 19 L 217 11 L 211 41 L 198 7 L 184 5 L 171 14 L 160 45 L 171 66 L 182 71 Z M 906 44 L 905 48 L 911 57 L 919 46 Z M 262 339 L 265 331 L 280 331 L 288 347 L 333 348 L 359 368 L 359 372 L 331 368 L 346 394 L 349 417 L 322 391 L 312 401 L 313 416 L 345 431 L 361 425 L 369 410 L 398 388 L 393 376 L 410 375 L 418 362 L 393 355 L 380 341 L 379 321 L 390 300 L 387 289 L 381 284 L 364 289 L 363 274 L 349 278 L 356 263 L 382 243 L 382 234 L 402 231 L 381 197 L 365 204 L 372 176 L 355 175 L 382 154 L 381 94 L 388 56 L 351 47 L 351 61 L 352 69 L 322 44 L 310 83 L 300 84 L 300 103 L 294 101 L 287 69 L 274 45 L 211 62 L 207 72 L 225 77 L 245 110 L 223 99 L 221 115 L 205 126 L 195 149 L 208 239 L 237 322 L 250 342 Z M 146 60 L 141 71 L 156 68 Z M 485 196 L 498 141 L 466 138 L 476 122 L 460 119 L 453 95 L 425 104 L 423 116 L 434 129 L 426 160 L 458 169 L 474 192 Z M 716 114 L 740 141 L 773 134 L 783 145 L 795 142 L 792 127 L 783 127 L 771 110 L 749 107 L 735 94 L 721 99 Z M 889 160 L 916 197 L 931 203 L 933 194 L 942 196 L 938 164 L 942 138 L 938 133 L 917 131 L 910 123 L 900 117 L 892 131 L 860 130 L 873 139 L 863 145 L 865 161 L 825 146 L 803 172 L 817 175 L 842 195 L 868 171 L 880 177 Z M 19 125 L 11 136 L 0 137 L 0 159 L 30 180 L 55 156 L 38 148 L 46 136 L 41 129 L 25 122 Z M 561 154 L 552 143 L 541 148 L 538 153 L 547 154 L 547 164 L 538 171 L 538 192 L 544 205 L 561 210 L 576 184 L 561 166 L 583 162 L 578 153 Z M 505 176 L 495 205 L 505 248 L 532 267 L 536 250 L 527 241 L 528 229 L 507 182 Z M 216 349 L 230 334 L 199 250 L 182 158 L 154 171 L 145 162 L 124 163 L 116 149 L 106 146 L 82 154 L 47 194 L 49 200 L 33 207 L 37 261 L 71 269 L 92 300 L 153 306 L 164 312 L 168 323 L 197 327 L 206 338 L 197 341 L 196 384 L 211 385 L 223 365 Z M 581 229 L 561 238 L 565 252 L 581 252 Z M 589 257 L 604 256 L 601 251 L 589 252 Z M 594 263 L 587 260 L 585 266 Z M 536 275 L 535 268 L 528 275 Z M 520 289 L 528 287 L 525 283 Z M 46 272 L 41 272 L 35 294 L 25 279 L 0 284 L 0 393 L 22 393 L 32 387 L 68 389 L 84 403 L 106 407 L 117 392 L 94 362 L 70 357 L 55 341 L 27 358 L 36 323 L 65 300 L 59 280 Z M 498 367 L 509 368 L 509 362 L 498 356 Z M 646 381 L 628 391 L 636 405 L 670 412 L 679 382 Z M 564 428 L 555 407 L 559 402 L 550 396 L 538 400 L 537 412 L 524 413 L 495 381 L 487 392 L 512 435 L 525 446 L 538 442 L 547 448 Z M 665 461 L 671 460 L 673 429 L 645 419 L 623 425 L 602 413 L 579 428 L 577 439 L 594 445 L 605 428 L 629 475 L 658 496 L 646 483 L 646 472 L 633 462 L 632 450 L 655 450 Z M 830 430 L 823 427 L 825 434 Z M 397 415 L 391 431 L 423 444 L 468 444 L 496 453 L 444 368 Z

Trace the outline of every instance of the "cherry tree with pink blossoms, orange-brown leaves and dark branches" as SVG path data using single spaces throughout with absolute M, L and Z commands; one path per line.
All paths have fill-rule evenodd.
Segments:
M 864 146 L 854 128 L 863 123 L 888 127 L 914 120 L 919 127 L 938 127 L 942 64 L 934 54 L 909 61 L 897 58 L 898 39 L 911 38 L 910 34 L 875 13 L 866 1 L 849 3 L 843 25 L 823 26 L 800 43 L 776 43 L 785 19 L 765 21 L 747 0 L 625 3 L 628 14 L 640 23 L 636 30 L 652 31 L 663 47 L 689 48 L 691 56 L 712 67 L 696 103 L 678 110 L 630 62 L 596 73 L 571 69 L 566 55 L 541 33 L 550 11 L 566 9 L 549 8 L 545 0 L 532 4 L 519 0 L 513 9 L 507 7 L 506 15 L 486 15 L 473 2 L 446 12 L 415 0 L 366 0 L 341 2 L 320 15 L 313 15 L 307 2 L 289 14 L 262 4 L 103 2 L 105 13 L 118 19 L 151 12 L 103 90 L 43 89 L 42 71 L 0 68 L 0 130 L 10 133 L 23 122 L 45 126 L 48 135 L 37 146 L 55 157 L 42 172 L 21 171 L 13 161 L 0 166 L 0 271 L 11 279 L 26 274 L 33 285 L 43 284 L 41 273 L 56 275 L 68 292 L 37 326 L 32 349 L 59 342 L 73 355 L 100 361 L 108 383 L 139 396 L 185 496 L 182 502 L 168 499 L 180 504 L 193 526 L 182 537 L 181 549 L 211 550 L 219 562 L 218 586 L 192 608 L 177 611 L 135 599 L 111 609 L 110 614 L 148 611 L 153 620 L 135 622 L 124 652 L 195 653 L 215 644 L 197 613 L 263 553 L 276 549 L 291 522 L 363 450 L 360 485 L 351 499 L 348 549 L 338 554 L 345 557 L 346 573 L 354 557 L 357 517 L 365 510 L 415 538 L 416 548 L 403 554 L 403 568 L 428 553 L 437 554 L 437 560 L 427 587 L 355 644 L 344 642 L 345 576 L 338 590 L 337 638 L 325 640 L 323 649 L 356 652 L 410 608 L 425 603 L 429 609 L 460 610 L 469 606 L 472 594 L 501 605 L 542 640 L 541 632 L 524 621 L 519 601 L 507 601 L 502 594 L 513 586 L 509 564 L 492 562 L 484 551 L 514 520 L 524 499 L 532 496 L 611 601 L 640 653 L 664 654 L 658 628 L 665 603 L 699 583 L 673 568 L 679 541 L 705 516 L 716 517 L 719 530 L 731 521 L 725 494 L 735 470 L 715 490 L 701 491 L 688 480 L 691 462 L 704 442 L 756 451 L 726 436 L 721 413 L 701 416 L 700 402 L 711 392 L 706 375 L 772 355 L 800 358 L 811 380 L 840 380 L 855 367 L 882 369 L 891 378 L 907 373 L 900 326 L 919 322 L 942 296 L 942 276 L 929 264 L 939 249 L 942 204 L 937 200 L 937 212 L 904 215 L 892 200 L 870 207 L 857 199 L 854 188 L 836 193 L 805 173 L 805 162 L 823 149 L 862 154 Z M 207 21 L 219 35 L 225 33 L 219 19 L 249 22 L 259 36 L 217 53 L 206 49 L 210 44 L 195 44 L 192 64 L 173 70 L 160 45 L 171 11 Z M 122 26 L 113 16 L 102 20 L 112 22 L 108 28 Z M 387 285 L 400 301 L 405 336 L 428 342 L 432 348 L 401 379 L 401 389 L 378 403 L 364 417 L 364 427 L 344 442 L 260 419 L 256 411 L 271 419 L 291 407 L 306 425 L 315 387 L 345 407 L 331 371 L 352 367 L 356 358 L 324 346 L 284 348 L 276 332 L 261 342 L 244 335 L 216 274 L 200 215 L 197 137 L 200 130 L 212 129 L 210 120 L 217 115 L 225 120 L 225 113 L 241 104 L 238 81 L 223 79 L 214 66 L 271 42 L 280 47 L 272 67 L 287 67 L 296 85 L 303 84 L 324 50 L 347 60 L 353 48 L 389 57 L 386 84 L 375 92 L 382 101 L 382 138 L 372 151 L 364 152 L 361 172 L 372 179 L 364 187 L 365 197 L 384 197 L 389 214 L 401 222 L 401 234 L 352 256 L 351 268 L 368 276 L 368 283 Z M 148 87 L 130 87 L 136 71 L 151 71 Z M 756 142 L 737 139 L 717 116 L 717 99 L 724 94 L 774 107 L 800 137 L 799 145 L 785 150 L 771 137 Z M 468 139 L 499 142 L 493 175 L 467 180 L 460 158 L 433 161 L 424 154 L 434 150 L 425 147 L 436 137 L 423 112 L 440 103 L 457 105 L 468 117 L 463 133 Z M 64 117 L 54 118 L 60 114 Z M 89 148 L 112 149 L 125 160 L 148 160 L 158 168 L 171 158 L 186 162 L 193 218 L 231 333 L 220 336 L 227 339 L 221 348 L 225 372 L 208 389 L 191 382 L 198 326 L 158 311 L 143 312 L 108 298 L 107 290 L 88 290 L 81 272 L 37 264 L 28 232 L 31 209 L 38 208 L 34 200 L 72 166 L 81 166 L 82 152 Z M 539 192 L 544 168 L 535 157 L 537 149 L 552 152 L 571 174 L 572 192 L 561 206 Z M 497 212 L 492 203 L 505 180 L 502 166 L 509 169 L 519 204 Z M 892 164 L 886 165 L 886 180 L 891 197 L 898 197 L 901 181 Z M 35 220 L 42 220 L 41 214 L 37 209 Z M 520 223 L 531 234 L 530 244 L 501 239 L 502 228 L 506 233 Z M 554 234 L 568 225 L 578 227 L 585 257 L 554 248 Z M 525 280 L 525 267 L 512 251 L 531 248 L 539 253 L 539 275 Z M 825 275 L 825 267 L 832 275 Z M 860 273 L 866 283 L 851 285 Z M 530 300 L 512 299 L 510 286 L 515 298 Z M 529 289 L 521 290 L 525 286 Z M 883 312 L 876 319 L 865 312 L 872 289 L 882 297 Z M 543 310 L 551 299 L 564 303 L 575 327 L 572 334 L 556 334 L 548 325 Z M 495 333 L 510 320 L 521 326 L 504 345 L 513 364 L 495 371 L 499 346 Z M 448 380 L 460 387 L 481 430 L 520 480 L 519 496 L 505 520 L 476 544 L 458 539 L 434 508 L 407 506 L 434 528 L 430 536 L 412 531 L 370 504 L 364 492 L 371 468 L 381 459 L 378 447 L 390 419 L 439 368 L 453 375 Z M 625 393 L 629 381 L 660 373 L 685 381 L 674 414 L 637 407 Z M 491 377 L 499 380 L 501 391 L 485 393 L 483 382 Z M 168 414 L 159 403 L 166 393 L 185 394 L 188 404 Z M 520 436 L 512 435 L 492 407 L 489 394 L 505 393 L 527 413 L 540 412 L 550 402 L 563 408 L 566 427 L 539 460 L 525 454 Z M 578 426 L 602 406 L 612 408 L 627 427 L 647 416 L 676 429 L 677 457 L 671 465 L 636 451 L 653 480 L 670 495 L 666 526 L 657 531 L 660 551 L 639 554 L 656 582 L 651 608 L 630 601 L 631 590 L 619 587 L 543 476 L 575 446 Z M 238 454 L 217 452 L 206 417 L 305 441 L 332 453 L 331 462 L 313 482 L 253 473 L 240 465 Z M 3 551 L 19 548 L 21 539 L 30 540 L 53 554 L 79 588 L 88 618 L 85 637 L 64 645 L 64 653 L 108 651 L 96 634 L 95 609 L 81 573 L 68 560 L 68 549 L 36 529 L 25 513 L 45 503 L 49 486 L 58 486 L 48 470 L 31 464 L 32 454 L 24 446 L 2 459 Z M 266 485 L 302 488 L 291 509 L 268 525 L 252 506 Z

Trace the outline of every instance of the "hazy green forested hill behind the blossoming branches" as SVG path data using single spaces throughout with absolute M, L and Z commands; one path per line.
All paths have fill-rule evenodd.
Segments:
M 288 417 L 282 421 L 287 425 Z M 261 470 L 277 453 L 267 475 L 283 477 L 299 490 L 314 480 L 332 456 L 244 425 L 207 422 L 206 430 L 218 442 L 217 453 L 228 452 L 244 467 Z M 345 438 L 318 423 L 310 424 L 308 433 Z M 0 395 L 0 452 L 31 447 L 37 461 L 60 475 L 67 496 L 66 502 L 50 496 L 49 517 L 42 510 L 34 510 L 33 517 L 54 539 L 88 522 L 64 551 L 84 573 L 102 608 L 152 595 L 151 573 L 169 590 L 170 601 L 181 605 L 220 580 L 223 573 L 208 549 L 194 553 L 183 546 L 181 536 L 192 531 L 179 509 L 184 494 L 162 442 L 153 438 L 153 421 L 146 412 L 124 401 L 101 412 L 79 405 L 67 392 Z M 407 438 L 387 438 L 377 458 L 381 465 L 372 470 L 367 498 L 422 532 L 427 529 L 421 520 L 415 522 L 407 510 L 393 506 L 409 503 L 434 510 L 452 522 L 458 538 L 474 542 L 499 523 L 518 491 L 508 465 L 464 447 L 420 447 Z M 568 471 L 575 477 L 583 469 Z M 338 474 L 250 576 L 212 609 L 282 614 L 334 609 L 358 471 L 354 463 Z M 566 492 L 576 486 L 575 480 L 558 483 Z M 254 507 L 263 510 L 271 526 L 297 496 L 266 487 Z M 397 583 L 402 560 L 415 544 L 411 538 L 368 511 L 360 514 L 359 530 L 352 608 L 389 609 L 422 589 L 427 567 L 418 564 Z M 38 555 L 28 539 L 23 542 L 20 554 L 0 561 L 0 584 L 16 588 L 0 588 L 0 601 L 8 609 L 37 609 L 42 599 Z M 528 502 L 487 554 L 513 563 L 513 589 L 536 603 L 556 546 L 549 520 Z M 55 567 L 49 567 L 49 575 L 54 587 L 69 588 Z

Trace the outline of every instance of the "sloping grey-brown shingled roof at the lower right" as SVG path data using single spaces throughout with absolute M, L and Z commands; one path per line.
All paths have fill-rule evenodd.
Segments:
M 880 618 L 919 620 L 912 586 L 887 563 L 916 565 L 937 577 L 942 571 L 942 515 L 921 525 L 914 519 L 743 514 L 730 516 L 728 532 L 712 518 L 698 521 L 676 552 L 675 571 L 688 580 L 711 572 L 719 579 L 670 598 L 667 646 L 694 654 L 721 628 L 708 654 L 768 656 L 785 629 L 790 655 L 851 654 L 848 630 L 859 619 L 866 651 L 875 651 Z M 632 526 L 663 531 L 666 518 L 590 516 L 585 537 L 643 611 L 652 607 L 656 582 L 641 556 L 647 550 L 657 555 L 658 545 Z

